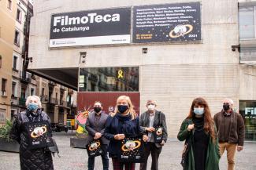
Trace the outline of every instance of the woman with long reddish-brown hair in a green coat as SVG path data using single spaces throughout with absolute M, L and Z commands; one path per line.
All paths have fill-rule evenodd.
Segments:
M 185 170 L 218 170 L 219 146 L 210 108 L 201 97 L 193 100 L 187 118 L 180 126 L 180 141 L 188 143 Z

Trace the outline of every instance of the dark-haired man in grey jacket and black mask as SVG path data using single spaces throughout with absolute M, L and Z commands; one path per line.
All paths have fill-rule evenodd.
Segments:
M 103 136 L 106 119 L 108 115 L 102 113 L 102 103 L 95 102 L 94 111 L 89 114 L 86 121 L 86 129 L 89 133 L 87 142 L 90 143 L 93 139 L 100 139 L 102 143 L 102 150 L 104 154 L 102 154 L 102 164 L 103 170 L 109 169 L 109 157 L 107 155 L 107 147 L 109 144 L 109 140 Z M 88 157 L 88 170 L 93 170 L 95 168 L 95 157 Z

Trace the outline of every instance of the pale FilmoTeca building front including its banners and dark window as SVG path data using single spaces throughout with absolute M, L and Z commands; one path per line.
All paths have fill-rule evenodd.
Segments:
M 245 3 L 39 0 L 28 68 L 77 89 L 78 111 L 95 100 L 112 111 L 117 96 L 126 94 L 142 113 L 147 99 L 155 99 L 166 115 L 169 136 L 176 138 L 198 96 L 207 100 L 212 114 L 226 97 L 240 112 L 244 101 L 255 107 L 250 102 L 256 100 L 256 60 L 241 62 L 239 13 Z M 254 123 L 251 127 L 256 132 Z

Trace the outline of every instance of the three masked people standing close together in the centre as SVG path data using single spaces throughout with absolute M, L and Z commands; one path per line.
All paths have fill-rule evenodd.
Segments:
M 120 96 L 117 99 L 115 111 L 109 116 L 102 113 L 102 103 L 95 102 L 94 111 L 87 118 L 86 128 L 91 139 L 102 139 L 104 150 L 107 149 L 109 157 L 112 158 L 113 169 L 134 170 L 134 162 L 122 162 L 118 159 L 120 152 L 120 140 L 131 137 L 141 137 L 144 141 L 144 161 L 140 163 L 140 170 L 147 170 L 147 158 L 151 154 L 151 169 L 158 169 L 158 157 L 161 147 L 167 140 L 167 127 L 165 114 L 155 109 L 154 100 L 147 101 L 147 111 L 141 114 L 140 118 L 135 113 L 132 101 L 128 96 Z M 154 141 L 155 128 L 161 125 L 161 142 Z M 109 140 L 109 143 L 107 142 Z M 94 169 L 95 157 L 88 157 L 88 170 Z M 102 154 L 103 170 L 109 169 L 107 152 Z

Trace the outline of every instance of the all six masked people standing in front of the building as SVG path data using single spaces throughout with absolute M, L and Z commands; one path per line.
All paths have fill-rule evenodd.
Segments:
M 28 109 L 18 114 L 10 134 L 11 138 L 20 143 L 20 168 L 54 169 L 50 150 L 47 150 L 47 141 L 51 137 L 50 118 L 40 110 L 39 97 L 29 96 L 26 105 Z M 228 170 L 234 169 L 236 150 L 243 150 L 244 123 L 232 106 L 232 99 L 224 99 L 223 109 L 212 118 L 205 99 L 193 100 L 177 136 L 180 141 L 185 140 L 182 157 L 184 170 L 218 170 L 219 159 L 224 150 L 227 150 Z M 135 162 L 119 159 L 119 143 L 126 138 L 140 138 L 143 141 L 143 161 L 140 162 L 139 169 L 147 170 L 147 158 L 151 154 L 150 169 L 158 170 L 158 158 L 168 137 L 165 114 L 156 110 L 157 103 L 154 100 L 147 100 L 146 107 L 147 111 L 138 116 L 131 99 L 119 96 L 114 112 L 107 115 L 102 111 L 101 102 L 94 103 L 94 111 L 89 114 L 86 122 L 89 134 L 87 141 L 100 141 L 103 170 L 109 169 L 109 157 L 112 159 L 113 170 L 135 169 Z M 32 129 L 36 125 L 42 125 L 42 122 L 45 127 L 43 130 Z M 49 132 L 48 136 L 41 139 L 46 140 L 46 143 L 31 139 L 31 136 L 42 136 L 44 130 Z M 161 132 L 160 139 L 155 138 L 158 132 Z M 95 157 L 88 157 L 88 170 L 93 170 L 94 167 Z

